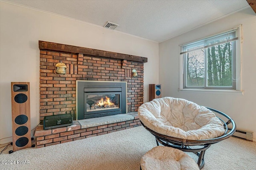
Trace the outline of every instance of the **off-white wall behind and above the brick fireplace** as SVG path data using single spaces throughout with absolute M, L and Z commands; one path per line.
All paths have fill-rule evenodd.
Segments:
M 11 82 L 30 82 L 31 129 L 39 123 L 38 40 L 147 57 L 144 101 L 148 84 L 158 83 L 158 43 L 0 2 L 0 139 L 12 136 Z

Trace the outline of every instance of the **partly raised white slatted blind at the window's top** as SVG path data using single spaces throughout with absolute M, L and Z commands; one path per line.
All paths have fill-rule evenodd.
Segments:
M 214 35 L 211 37 L 200 39 L 198 41 L 194 41 L 192 43 L 187 43 L 187 44 L 181 45 L 180 46 L 180 54 L 185 54 L 190 51 L 204 49 L 204 48 L 212 47 L 215 45 L 235 41 L 238 39 L 238 36 L 236 34 L 237 30 L 238 30 L 238 28 L 235 28 L 235 29 L 232 29 L 231 31 L 226 31 L 226 32 L 220 33 L 218 35 Z

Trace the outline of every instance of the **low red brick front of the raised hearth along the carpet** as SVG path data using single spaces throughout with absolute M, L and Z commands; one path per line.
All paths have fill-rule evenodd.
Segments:
M 132 127 L 140 126 L 140 119 L 138 115 L 134 115 L 134 119 L 128 121 L 121 121 L 106 125 L 99 125 L 95 127 L 88 127 L 81 129 L 78 121 L 74 121 L 73 125 L 68 127 L 60 127 L 56 129 L 43 130 L 43 126 L 36 127 L 35 137 L 38 148 L 56 145 L 79 139 L 104 135 L 107 133 L 129 129 Z

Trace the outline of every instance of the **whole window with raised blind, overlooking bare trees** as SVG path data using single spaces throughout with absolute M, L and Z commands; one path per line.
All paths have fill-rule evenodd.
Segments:
M 236 90 L 239 30 L 237 27 L 180 46 L 182 89 Z

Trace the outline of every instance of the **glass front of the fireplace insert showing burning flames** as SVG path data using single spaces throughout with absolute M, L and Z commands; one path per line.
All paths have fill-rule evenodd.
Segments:
M 86 95 L 86 111 L 101 111 L 120 108 L 120 94 Z

